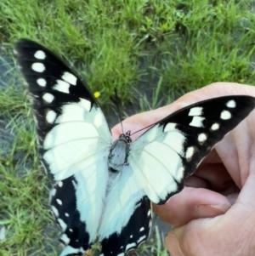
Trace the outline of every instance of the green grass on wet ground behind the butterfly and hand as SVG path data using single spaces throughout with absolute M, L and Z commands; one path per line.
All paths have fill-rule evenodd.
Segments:
M 254 83 L 251 1 L 1 0 L 0 9 L 3 54 L 12 58 L 20 37 L 51 48 L 101 93 L 108 116 L 115 87 L 133 114 L 211 82 Z M 14 78 L 0 88 L 0 256 L 56 255 L 26 87 L 11 66 L 1 81 L 8 73 Z M 156 237 L 141 251 L 165 255 Z

